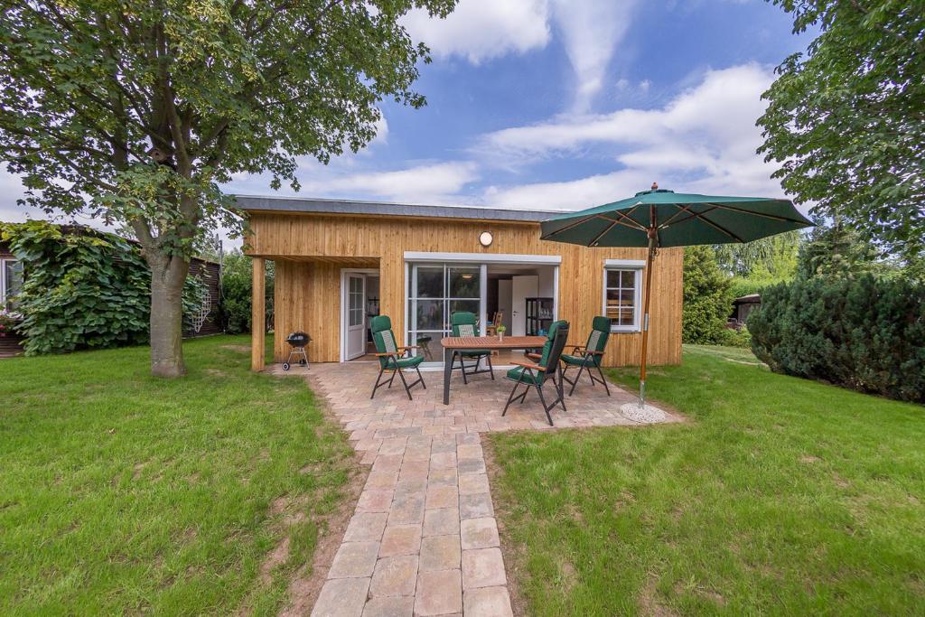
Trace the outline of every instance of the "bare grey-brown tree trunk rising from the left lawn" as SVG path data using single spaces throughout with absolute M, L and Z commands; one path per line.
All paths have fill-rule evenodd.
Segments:
M 183 284 L 190 263 L 179 257 L 149 259 L 151 266 L 151 373 L 186 375 L 183 364 Z

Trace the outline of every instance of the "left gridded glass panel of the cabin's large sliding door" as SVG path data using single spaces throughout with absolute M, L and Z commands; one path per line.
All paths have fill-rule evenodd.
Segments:
M 443 362 L 440 339 L 450 336 L 450 315 L 475 313 L 482 319 L 482 266 L 408 264 L 408 344 L 427 362 Z

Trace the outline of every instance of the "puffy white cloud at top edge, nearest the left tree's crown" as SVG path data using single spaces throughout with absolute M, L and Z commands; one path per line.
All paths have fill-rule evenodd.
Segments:
M 414 41 L 437 57 L 462 56 L 473 64 L 549 43 L 546 0 L 461 0 L 446 19 L 414 9 L 403 23 Z

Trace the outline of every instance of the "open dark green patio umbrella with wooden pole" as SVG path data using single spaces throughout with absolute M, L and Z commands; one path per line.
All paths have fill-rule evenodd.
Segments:
M 685 194 L 659 189 L 637 192 L 629 199 L 556 216 L 542 223 L 543 240 L 583 246 L 648 246 L 639 406 L 646 404 L 648 302 L 652 260 L 661 247 L 750 242 L 811 227 L 786 199 Z

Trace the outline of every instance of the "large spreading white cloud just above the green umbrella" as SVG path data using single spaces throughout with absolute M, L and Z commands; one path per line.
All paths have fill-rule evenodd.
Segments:
M 522 162 L 581 155 L 589 147 L 612 152 L 617 170 L 562 182 L 494 186 L 485 200 L 507 207 L 581 208 L 648 189 L 783 196 L 774 167 L 755 150 L 760 95 L 771 84 L 767 68 L 711 70 L 694 88 L 660 109 L 624 108 L 607 115 L 570 115 L 485 136 L 483 155 Z

